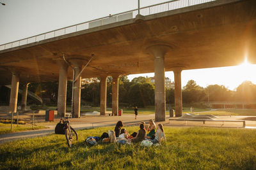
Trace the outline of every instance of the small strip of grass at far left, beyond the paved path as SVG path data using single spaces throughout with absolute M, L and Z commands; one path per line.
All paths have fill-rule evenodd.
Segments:
M 47 127 L 44 126 L 34 126 L 34 130 L 38 129 L 46 129 Z M 12 124 L 12 132 L 21 132 L 21 131 L 31 131 L 32 125 L 31 124 L 25 124 L 17 127 L 17 124 Z M 3 124 L 0 123 L 0 134 L 6 134 L 11 132 L 11 124 Z

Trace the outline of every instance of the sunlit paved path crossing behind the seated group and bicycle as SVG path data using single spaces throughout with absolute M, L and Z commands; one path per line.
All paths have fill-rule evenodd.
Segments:
M 72 127 L 74 129 L 79 130 L 79 129 L 89 129 L 93 127 L 104 127 L 104 126 L 115 126 L 116 122 L 118 120 L 122 120 L 124 122 L 124 126 L 127 125 L 139 125 L 141 121 L 144 121 L 148 123 L 148 120 L 150 118 L 154 119 L 154 115 L 138 115 L 138 119 L 134 119 L 134 115 L 129 115 L 125 114 L 122 115 L 121 117 L 109 117 L 109 116 L 100 116 L 100 115 L 95 115 L 95 116 L 86 116 L 82 118 L 70 118 L 70 122 Z M 243 119 L 246 117 L 220 117 L 220 119 Z M 183 121 L 171 121 L 169 122 L 169 117 L 166 117 L 165 122 L 161 122 L 164 124 L 164 126 L 172 126 L 172 127 L 191 127 L 191 126 L 203 126 L 202 122 L 188 122 L 186 124 Z M 39 120 L 37 120 L 39 121 Z M 41 121 L 44 122 L 44 118 L 41 118 Z M 14 132 L 10 134 L 0 134 L 0 143 L 5 143 L 8 141 L 12 141 L 15 139 L 20 139 L 20 138 L 33 138 L 33 137 L 38 137 L 38 136 L 45 136 L 48 134 L 53 134 L 54 133 L 54 128 L 55 125 L 58 123 L 59 119 L 54 120 L 54 122 L 49 123 L 48 125 L 45 125 L 49 127 L 49 129 L 40 129 L 40 130 L 35 130 L 35 131 L 26 131 L 26 132 Z M 242 125 L 240 124 L 222 124 L 222 122 L 216 122 L 211 124 L 206 124 L 204 126 L 209 126 L 209 127 L 241 127 Z M 246 121 L 246 127 L 255 129 L 256 128 L 256 121 Z

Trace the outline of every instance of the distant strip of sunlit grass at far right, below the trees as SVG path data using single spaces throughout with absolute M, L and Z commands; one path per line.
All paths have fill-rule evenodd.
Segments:
M 200 114 L 211 114 L 211 115 L 234 115 L 234 116 L 256 116 L 256 110 L 230 110 L 230 109 L 221 109 L 216 111 L 209 111 L 207 113 L 200 113 Z

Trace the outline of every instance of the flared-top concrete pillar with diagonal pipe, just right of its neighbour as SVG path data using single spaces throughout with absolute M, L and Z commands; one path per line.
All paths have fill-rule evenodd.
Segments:
M 75 79 L 76 79 L 77 76 L 79 76 L 79 73 L 81 73 L 81 71 L 82 71 L 82 66 L 83 66 L 84 60 L 82 60 L 82 59 L 72 59 L 72 60 L 70 60 L 70 62 L 72 63 L 72 65 L 74 67 Z M 73 113 L 73 117 L 75 117 L 75 118 L 80 117 L 81 80 L 82 80 L 82 77 L 79 76 L 77 78 L 77 80 L 74 82 L 74 98 L 73 98 L 73 100 L 74 100 L 73 101 L 74 102 L 74 113 Z

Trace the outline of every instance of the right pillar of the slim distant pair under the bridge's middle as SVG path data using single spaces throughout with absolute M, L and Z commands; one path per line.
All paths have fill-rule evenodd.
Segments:
M 117 74 L 112 76 L 112 114 L 115 116 L 118 113 L 118 76 Z

